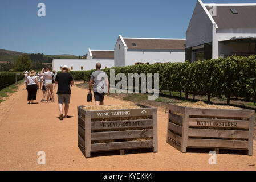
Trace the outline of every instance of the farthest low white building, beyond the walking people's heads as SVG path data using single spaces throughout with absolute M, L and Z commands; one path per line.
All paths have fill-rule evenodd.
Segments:
M 95 69 L 96 63 L 101 63 L 101 68 L 111 68 L 114 66 L 114 51 L 91 51 L 88 49 L 87 59 L 53 59 L 52 68 L 60 71 L 67 65 L 71 71 L 85 71 Z

